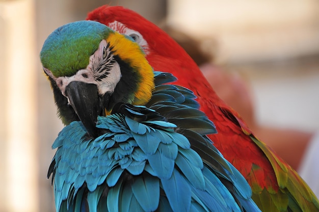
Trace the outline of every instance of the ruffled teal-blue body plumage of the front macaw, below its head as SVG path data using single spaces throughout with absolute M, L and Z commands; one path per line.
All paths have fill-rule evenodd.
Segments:
M 163 85 L 144 106 L 118 103 L 92 138 L 79 121 L 52 145 L 57 211 L 259 211 L 243 176 L 205 136 L 215 126 L 194 94 Z

